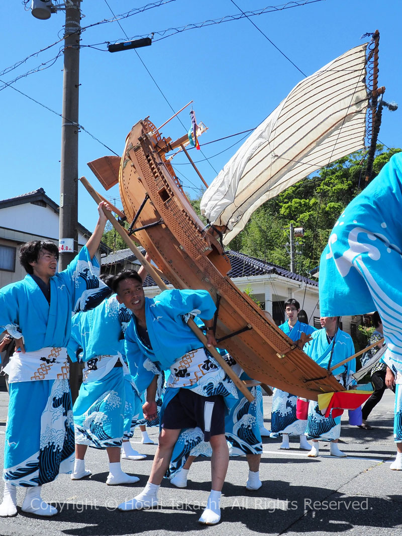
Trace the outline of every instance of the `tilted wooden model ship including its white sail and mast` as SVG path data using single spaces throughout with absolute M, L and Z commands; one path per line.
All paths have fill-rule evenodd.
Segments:
M 370 43 L 348 50 L 302 80 L 252 132 L 203 196 L 208 230 L 185 196 L 172 157 L 167 158 L 181 148 L 200 176 L 184 147 L 188 135 L 172 142 L 162 137 L 162 127 L 145 118 L 131 129 L 121 158 L 103 157 L 89 164 L 106 189 L 120 185 L 121 216 L 131 222 L 128 235 L 143 245 L 165 278 L 176 288 L 202 288 L 211 294 L 217 304 L 219 346 L 251 378 L 314 400 L 319 393 L 344 389 L 331 370 L 302 352 L 304 334 L 300 347 L 294 344 L 233 284 L 222 244 L 240 232 L 267 198 L 362 148 L 367 113 L 369 180 L 383 106 L 379 98 L 385 91 L 377 85 L 378 42 L 376 31 Z

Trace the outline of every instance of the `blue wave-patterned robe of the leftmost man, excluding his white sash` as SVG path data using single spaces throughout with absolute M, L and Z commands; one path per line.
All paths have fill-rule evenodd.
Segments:
M 65 348 L 72 312 L 109 293 L 98 274 L 99 264 L 84 247 L 66 270 L 50 278 L 50 305 L 29 274 L 4 287 L 0 329 L 15 338 L 23 336 L 26 352 Z M 68 379 L 10 383 L 3 478 L 16 486 L 40 486 L 58 473 L 71 472 L 73 452 Z

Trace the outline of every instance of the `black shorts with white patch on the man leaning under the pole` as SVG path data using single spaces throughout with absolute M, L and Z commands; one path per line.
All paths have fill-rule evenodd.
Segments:
M 163 412 L 162 428 L 177 430 L 199 426 L 204 440 L 225 433 L 225 401 L 220 394 L 203 397 L 190 389 L 180 389 Z

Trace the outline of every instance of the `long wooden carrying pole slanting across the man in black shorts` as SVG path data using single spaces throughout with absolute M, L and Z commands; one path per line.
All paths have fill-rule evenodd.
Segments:
M 99 195 L 99 193 L 91 186 L 91 184 L 86 180 L 85 177 L 80 178 L 81 183 L 83 183 L 84 187 L 90 194 L 90 196 L 96 201 L 96 203 L 100 203 L 103 199 Z M 110 221 L 111 225 L 116 229 L 117 233 L 120 234 L 124 242 L 128 245 L 128 247 L 131 249 L 133 254 L 137 257 L 139 262 L 144 266 L 145 270 L 150 274 L 152 279 L 155 281 L 155 283 L 158 285 L 158 287 L 161 289 L 161 291 L 166 291 L 168 289 L 168 286 L 163 282 L 163 280 L 159 277 L 157 272 L 154 270 L 151 263 L 147 261 L 147 259 L 144 257 L 144 255 L 139 251 L 139 249 L 133 244 L 132 240 L 128 236 L 126 230 L 118 223 L 116 218 L 113 214 L 111 214 L 109 211 L 103 209 L 103 212 L 105 213 L 107 219 Z M 233 372 L 233 370 L 229 367 L 227 362 L 222 358 L 222 356 L 219 354 L 216 348 L 213 346 L 209 347 L 207 346 L 207 340 L 204 335 L 204 333 L 199 329 L 197 324 L 193 321 L 192 318 L 189 319 L 187 322 L 187 325 L 190 327 L 192 332 L 198 337 L 198 339 L 203 343 L 205 348 L 208 352 L 213 356 L 215 360 L 218 361 L 222 369 L 225 370 L 226 374 L 229 376 L 229 378 L 233 381 L 233 383 L 236 385 L 237 389 L 242 392 L 242 394 L 252 402 L 254 400 L 254 396 L 250 393 L 250 391 L 244 386 L 243 382 L 239 378 L 239 376 L 236 376 L 236 374 Z

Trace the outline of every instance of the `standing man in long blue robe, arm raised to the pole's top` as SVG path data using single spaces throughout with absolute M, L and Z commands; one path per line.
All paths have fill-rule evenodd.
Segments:
M 107 221 L 102 206 L 93 235 L 66 270 L 56 273 L 58 248 L 53 242 L 28 242 L 20 248 L 27 276 L 0 291 L 0 329 L 16 339 L 16 352 L 5 368 L 10 401 L 0 517 L 17 514 L 17 486 L 26 487 L 24 512 L 54 516 L 56 508 L 41 498 L 42 485 L 73 469 L 66 346 L 72 311 L 110 292 L 96 277 L 94 259 Z

